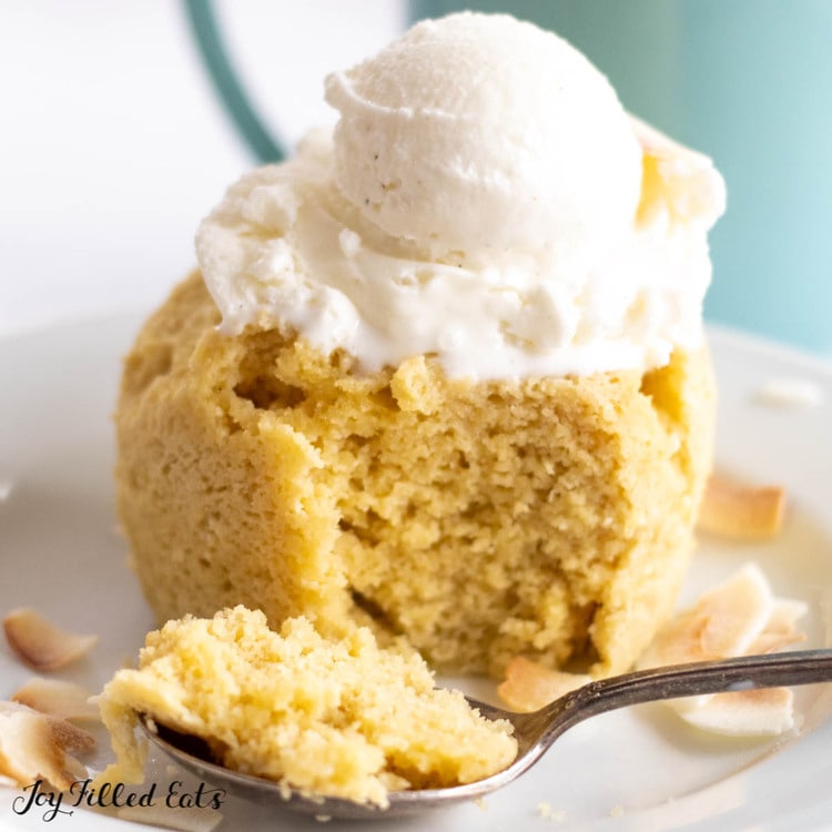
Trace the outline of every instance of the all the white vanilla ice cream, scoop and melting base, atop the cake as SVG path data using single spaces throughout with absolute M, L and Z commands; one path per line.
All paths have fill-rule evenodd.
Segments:
M 334 134 L 243 176 L 200 226 L 224 332 L 476 379 L 643 371 L 701 343 L 722 179 L 556 35 L 426 21 L 326 94 Z

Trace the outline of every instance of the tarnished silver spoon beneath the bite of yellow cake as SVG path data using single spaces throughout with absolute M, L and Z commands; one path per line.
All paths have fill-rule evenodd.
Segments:
M 281 790 L 272 780 L 241 774 L 203 759 L 202 751 L 192 750 L 194 742 L 200 743 L 200 740 L 194 741 L 192 737 L 156 727 L 145 717 L 140 722 L 148 737 L 169 757 L 205 782 L 224 788 L 230 794 L 260 803 L 274 803 L 303 814 L 339 819 L 390 818 L 481 798 L 528 771 L 566 730 L 606 711 L 701 693 L 828 681 L 832 681 L 832 649 L 743 656 L 640 670 L 589 682 L 531 713 L 514 713 L 468 698 L 484 717 L 507 719 L 515 727 L 519 745 L 515 761 L 497 774 L 474 783 L 390 792 L 387 809 L 343 798 L 312 798 L 300 792 L 284 797 L 285 790 Z M 204 753 L 207 755 L 206 749 Z

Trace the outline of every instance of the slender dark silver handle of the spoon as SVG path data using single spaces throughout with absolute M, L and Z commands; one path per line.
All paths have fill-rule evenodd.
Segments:
M 550 738 L 552 741 L 576 722 L 630 704 L 829 681 L 832 681 L 832 649 L 741 656 L 600 679 L 546 706 L 537 714 L 560 726 Z

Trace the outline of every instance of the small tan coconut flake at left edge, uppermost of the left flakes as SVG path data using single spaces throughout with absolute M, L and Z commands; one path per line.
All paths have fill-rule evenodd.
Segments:
M 37 610 L 21 607 L 3 619 L 9 647 L 35 670 L 57 670 L 84 656 L 98 636 L 80 636 L 61 630 Z

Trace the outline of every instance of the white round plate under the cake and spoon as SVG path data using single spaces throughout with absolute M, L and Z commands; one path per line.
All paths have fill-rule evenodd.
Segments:
M 153 625 L 128 569 L 111 487 L 110 413 L 120 356 L 138 326 L 133 315 L 0 341 L 0 497 L 10 487 L 0 499 L 0 611 L 30 605 L 69 629 L 99 633 L 94 651 L 59 673 L 92 689 L 135 655 Z M 832 643 L 832 369 L 723 331 L 712 332 L 712 344 L 721 396 L 718 463 L 753 481 L 784 485 L 790 510 L 774 542 L 702 541 L 686 593 L 753 559 L 779 595 L 809 602 L 808 646 Z M 762 405 L 755 394 L 772 378 L 805 379 L 822 402 Z M 0 698 L 30 676 L 0 645 Z M 775 744 L 698 734 L 661 706 L 607 714 L 568 733 L 484 804 L 373 829 L 552 829 L 540 804 L 567 830 L 826 829 L 832 689 L 804 688 L 798 703 L 802 730 Z M 154 772 L 170 780 L 163 765 Z M 0 829 L 42 830 L 48 806 L 18 814 L 19 797 L 0 788 Z M 319 829 L 235 800 L 221 811 L 223 829 Z M 118 832 L 129 824 L 75 809 L 49 828 Z

